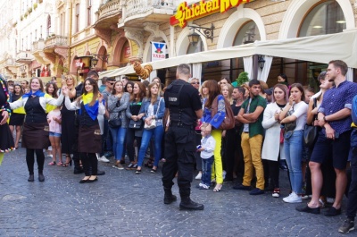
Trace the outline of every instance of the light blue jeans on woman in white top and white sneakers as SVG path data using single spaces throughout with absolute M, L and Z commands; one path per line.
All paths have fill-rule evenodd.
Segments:
M 291 187 L 296 194 L 301 194 L 303 188 L 303 130 L 294 131 L 290 138 L 284 139 L 284 152 L 289 168 Z

